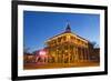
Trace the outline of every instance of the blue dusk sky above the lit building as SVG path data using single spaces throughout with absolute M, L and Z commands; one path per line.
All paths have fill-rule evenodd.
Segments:
M 68 22 L 73 33 L 100 44 L 99 14 L 23 11 L 26 48 L 30 48 L 30 52 L 43 49 L 49 38 L 64 32 Z

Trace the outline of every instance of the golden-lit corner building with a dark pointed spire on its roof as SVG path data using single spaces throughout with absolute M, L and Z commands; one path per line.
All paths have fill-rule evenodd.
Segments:
M 90 61 L 93 45 L 71 31 L 70 24 L 65 31 L 46 41 L 48 63 L 74 63 Z

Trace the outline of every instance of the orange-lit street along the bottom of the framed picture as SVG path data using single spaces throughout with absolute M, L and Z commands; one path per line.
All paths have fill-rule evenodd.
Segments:
M 81 68 L 81 67 L 99 67 L 95 62 L 77 62 L 77 63 L 27 63 L 24 64 L 24 70 L 30 69 L 53 69 L 53 68 Z

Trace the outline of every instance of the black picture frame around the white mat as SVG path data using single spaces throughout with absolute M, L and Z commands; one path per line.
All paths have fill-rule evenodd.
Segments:
M 18 77 L 18 6 L 46 6 L 61 8 L 80 8 L 80 9 L 98 9 L 104 10 L 104 71 L 98 72 L 81 72 L 65 74 L 46 74 L 46 75 L 28 75 Z M 11 79 L 12 80 L 32 80 L 32 79 L 50 79 L 50 78 L 68 78 L 68 77 L 88 77 L 108 74 L 108 7 L 107 6 L 90 6 L 90 4 L 71 4 L 71 3 L 54 3 L 39 1 L 12 1 L 11 3 Z

